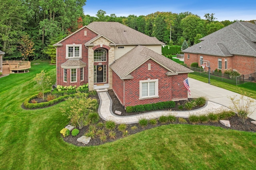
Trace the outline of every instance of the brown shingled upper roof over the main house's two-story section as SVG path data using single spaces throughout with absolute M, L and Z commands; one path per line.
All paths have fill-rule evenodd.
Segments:
M 110 45 L 164 45 L 165 43 L 156 39 L 156 37 L 150 37 L 144 33 L 136 31 L 126 25 L 119 22 L 92 22 L 84 27 L 97 33 L 98 36 L 95 37 L 105 37 L 110 42 Z M 61 42 L 68 37 L 74 35 L 84 27 L 78 29 L 74 33 L 68 35 L 64 39 L 60 40 L 54 46 L 62 45 Z M 92 45 L 92 41 L 88 41 L 86 45 Z

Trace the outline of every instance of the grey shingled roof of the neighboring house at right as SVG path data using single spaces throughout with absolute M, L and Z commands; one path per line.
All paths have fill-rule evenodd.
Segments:
M 183 52 L 222 57 L 256 56 L 256 25 L 250 22 L 236 21 L 200 40 Z

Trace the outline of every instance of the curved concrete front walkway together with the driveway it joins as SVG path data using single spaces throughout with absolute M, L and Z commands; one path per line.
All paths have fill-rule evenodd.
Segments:
M 148 113 L 142 113 L 140 115 L 132 115 L 132 116 L 118 116 L 112 112 L 112 100 L 108 94 L 108 92 L 98 92 L 98 96 L 100 98 L 100 106 L 98 112 L 100 117 L 107 120 L 115 121 L 116 123 L 138 123 L 141 118 L 146 119 L 156 119 L 161 115 L 175 115 L 176 117 L 188 117 L 191 114 L 205 114 L 211 112 L 217 112 L 220 109 L 228 109 L 228 107 L 232 106 L 231 100 L 228 98 L 230 96 L 240 96 L 237 93 L 231 92 L 229 90 L 225 90 L 222 88 L 218 88 L 216 86 L 200 82 L 198 80 L 194 80 L 189 78 L 190 91 L 191 96 L 188 95 L 188 98 L 198 98 L 200 96 L 204 96 L 208 98 L 207 104 L 196 110 L 192 111 L 152 111 Z M 256 100 L 254 100 L 254 104 L 256 104 Z M 254 107 L 252 107 L 254 109 Z M 252 119 L 256 119 L 256 111 L 250 116 Z

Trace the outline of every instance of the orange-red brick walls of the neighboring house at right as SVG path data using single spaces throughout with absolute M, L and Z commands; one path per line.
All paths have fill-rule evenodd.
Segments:
M 210 61 L 211 71 L 218 69 L 218 59 L 222 59 L 222 73 L 225 72 L 225 59 L 228 59 L 227 69 L 236 69 L 240 74 L 250 74 L 256 72 L 256 58 L 234 55 L 233 57 L 218 57 L 211 55 L 200 55 L 200 54 L 190 54 L 190 59 L 187 57 L 188 53 L 184 53 L 184 63 L 190 66 L 191 63 L 200 64 L 200 56 L 203 56 L 204 60 Z M 206 68 L 208 70 L 208 68 Z

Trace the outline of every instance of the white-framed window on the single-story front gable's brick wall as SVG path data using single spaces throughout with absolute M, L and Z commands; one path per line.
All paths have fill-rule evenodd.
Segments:
M 140 99 L 158 96 L 158 79 L 140 80 Z

